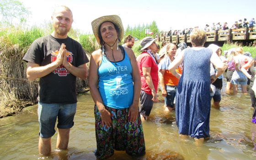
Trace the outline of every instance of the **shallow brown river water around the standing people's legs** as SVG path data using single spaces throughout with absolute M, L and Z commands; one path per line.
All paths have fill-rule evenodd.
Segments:
M 160 94 L 160 92 L 159 92 Z M 146 155 L 132 158 L 116 151 L 109 160 L 256 160 L 256 124 L 251 123 L 249 95 L 222 94 L 220 108 L 211 108 L 210 136 L 201 147 L 179 136 L 175 112 L 165 112 L 163 101 L 155 103 L 149 121 L 143 122 Z M 26 112 L 0 119 L 0 160 L 96 160 L 94 102 L 90 92 L 78 96 L 75 125 L 70 132 L 69 149 L 52 155 L 37 153 L 37 105 Z

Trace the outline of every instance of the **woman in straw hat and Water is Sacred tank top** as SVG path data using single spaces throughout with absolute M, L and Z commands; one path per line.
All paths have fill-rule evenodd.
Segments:
M 91 22 L 101 48 L 91 54 L 89 86 L 95 102 L 96 157 L 114 150 L 145 154 L 139 116 L 140 77 L 133 50 L 119 45 L 124 29 L 119 16 L 102 16 Z

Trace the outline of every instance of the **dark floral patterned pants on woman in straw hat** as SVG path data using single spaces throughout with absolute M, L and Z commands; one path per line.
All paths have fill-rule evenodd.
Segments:
M 128 155 L 141 156 L 145 154 L 145 141 L 140 115 L 134 123 L 129 122 L 128 108 L 114 109 L 105 106 L 111 113 L 112 127 L 101 125 L 98 108 L 94 107 L 95 131 L 98 159 L 106 159 L 114 154 L 114 150 L 125 150 Z

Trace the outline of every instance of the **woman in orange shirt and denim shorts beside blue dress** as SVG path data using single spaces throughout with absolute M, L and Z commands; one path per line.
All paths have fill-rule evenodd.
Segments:
M 179 79 L 177 79 L 168 70 L 169 65 L 175 59 L 176 45 L 169 43 L 166 45 L 165 57 L 158 64 L 159 68 L 159 80 L 162 91 L 162 96 L 165 99 L 165 110 L 172 111 L 175 107 L 174 98 L 176 95 L 176 86 L 178 85 Z M 181 74 L 181 66 L 176 68 L 176 72 Z

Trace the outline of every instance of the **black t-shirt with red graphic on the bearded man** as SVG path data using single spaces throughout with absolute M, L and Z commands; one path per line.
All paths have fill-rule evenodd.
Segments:
M 32 62 L 45 66 L 56 60 L 61 44 L 66 45 L 67 60 L 78 67 L 89 62 L 80 43 L 67 37 L 65 39 L 54 38 L 51 35 L 35 40 L 23 57 L 26 62 Z M 43 103 L 76 103 L 76 77 L 64 66 L 59 66 L 50 74 L 39 80 L 38 101 Z

